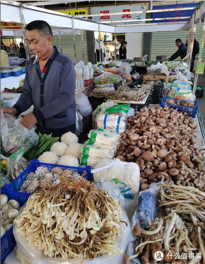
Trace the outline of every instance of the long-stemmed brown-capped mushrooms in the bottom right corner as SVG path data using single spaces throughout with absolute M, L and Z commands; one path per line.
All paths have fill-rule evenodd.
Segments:
M 141 230 L 139 225 L 133 227 L 133 234 L 139 236 L 140 244 L 135 248 L 134 255 L 125 255 L 125 261 L 138 257 L 141 254 L 141 263 L 158 263 L 155 253 L 161 251 L 164 258 L 161 263 L 185 263 L 184 255 L 194 255 L 188 263 L 204 263 L 205 260 L 205 232 L 195 224 L 184 222 L 175 212 L 166 217 L 155 218 L 147 222 L 147 230 Z M 194 254 L 193 254 L 194 253 Z M 200 256 L 200 257 L 198 257 Z M 176 258 L 176 259 L 175 259 Z M 188 259 L 188 257 L 187 257 Z

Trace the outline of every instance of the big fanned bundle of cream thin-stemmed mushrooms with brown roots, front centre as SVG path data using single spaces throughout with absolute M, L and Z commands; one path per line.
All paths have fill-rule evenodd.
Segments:
M 44 255 L 77 261 L 122 254 L 115 246 L 122 225 L 127 224 L 122 217 L 118 202 L 105 190 L 83 178 L 61 176 L 59 185 L 29 197 L 15 219 L 15 229 Z

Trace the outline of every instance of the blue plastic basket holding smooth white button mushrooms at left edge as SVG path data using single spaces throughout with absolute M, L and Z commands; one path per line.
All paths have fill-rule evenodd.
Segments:
M 25 196 L 24 193 L 15 192 L 11 193 L 5 190 L 1 190 L 1 194 L 6 194 L 8 196 L 8 200 L 15 199 L 19 202 L 20 206 L 23 206 L 24 203 L 27 202 L 29 196 Z M 10 252 L 14 249 L 16 245 L 16 241 L 13 236 L 13 227 L 11 227 L 2 237 L 1 237 L 1 263 L 5 260 L 5 258 L 10 254 Z

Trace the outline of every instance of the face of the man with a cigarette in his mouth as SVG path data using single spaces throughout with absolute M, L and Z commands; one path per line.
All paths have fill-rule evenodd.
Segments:
M 48 53 L 51 50 L 51 46 L 53 43 L 53 38 L 51 36 L 43 37 L 38 33 L 37 29 L 27 30 L 26 39 L 29 45 L 30 50 L 39 60 L 46 60 L 48 57 Z

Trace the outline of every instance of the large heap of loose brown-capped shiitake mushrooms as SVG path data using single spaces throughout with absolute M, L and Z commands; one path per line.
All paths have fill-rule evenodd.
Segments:
M 191 117 L 157 106 L 136 111 L 126 122 L 116 158 L 139 165 L 141 191 L 160 181 L 205 191 L 205 149 L 196 146 L 197 124 Z

